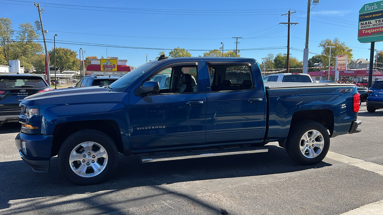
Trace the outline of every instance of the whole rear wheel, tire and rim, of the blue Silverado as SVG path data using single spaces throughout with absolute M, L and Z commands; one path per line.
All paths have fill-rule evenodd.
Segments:
M 290 128 L 286 151 L 290 158 L 303 165 L 314 165 L 323 160 L 330 147 L 326 128 L 316 121 L 303 121 Z

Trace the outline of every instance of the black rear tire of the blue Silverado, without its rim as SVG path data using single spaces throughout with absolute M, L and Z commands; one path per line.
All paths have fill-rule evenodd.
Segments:
M 306 145 L 306 142 L 304 142 L 301 138 L 306 132 L 309 132 L 311 130 L 317 130 L 318 132 L 321 133 L 321 138 L 319 139 L 320 139 L 320 142 L 323 144 L 323 148 L 321 149 L 318 155 L 312 158 L 308 158 L 306 157 L 306 155 L 303 155 L 303 153 L 301 152 L 301 144 L 304 143 L 302 147 L 305 147 L 304 145 Z M 317 140 L 318 142 L 319 139 L 318 140 L 314 139 L 314 140 Z M 309 138 L 309 141 L 312 141 L 311 138 Z M 309 145 L 311 144 L 315 145 L 318 143 L 309 142 L 306 146 L 310 147 L 310 150 L 311 150 L 311 146 Z M 326 128 L 319 122 L 307 120 L 307 121 L 299 122 L 295 126 L 290 127 L 290 132 L 286 140 L 286 151 L 293 161 L 303 165 L 317 164 L 321 162 L 324 157 L 326 157 L 327 152 L 329 151 L 329 147 L 330 147 L 330 136 Z M 308 151 L 308 150 L 309 149 L 305 151 Z M 312 147 L 312 150 L 317 150 L 315 152 L 318 152 L 319 148 L 317 148 L 317 145 L 315 145 L 315 147 Z

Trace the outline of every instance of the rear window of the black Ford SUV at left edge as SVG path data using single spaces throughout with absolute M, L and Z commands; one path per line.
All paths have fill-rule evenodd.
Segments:
M 0 88 L 45 88 L 43 78 L 31 76 L 0 76 Z

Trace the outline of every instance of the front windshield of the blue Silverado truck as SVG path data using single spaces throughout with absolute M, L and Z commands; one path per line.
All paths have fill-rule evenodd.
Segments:
M 128 74 L 124 75 L 114 83 L 110 85 L 111 88 L 113 88 L 112 91 L 115 92 L 122 92 L 125 90 L 127 86 L 129 86 L 133 81 L 135 81 L 137 78 L 144 75 L 148 70 L 150 70 L 152 67 L 157 65 L 156 63 L 150 63 L 150 64 L 142 64 L 141 66 L 135 68 Z

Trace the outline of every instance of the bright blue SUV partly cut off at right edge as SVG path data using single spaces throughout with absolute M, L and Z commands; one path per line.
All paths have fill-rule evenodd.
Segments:
M 368 89 L 367 111 L 383 108 L 383 80 L 376 80 Z

